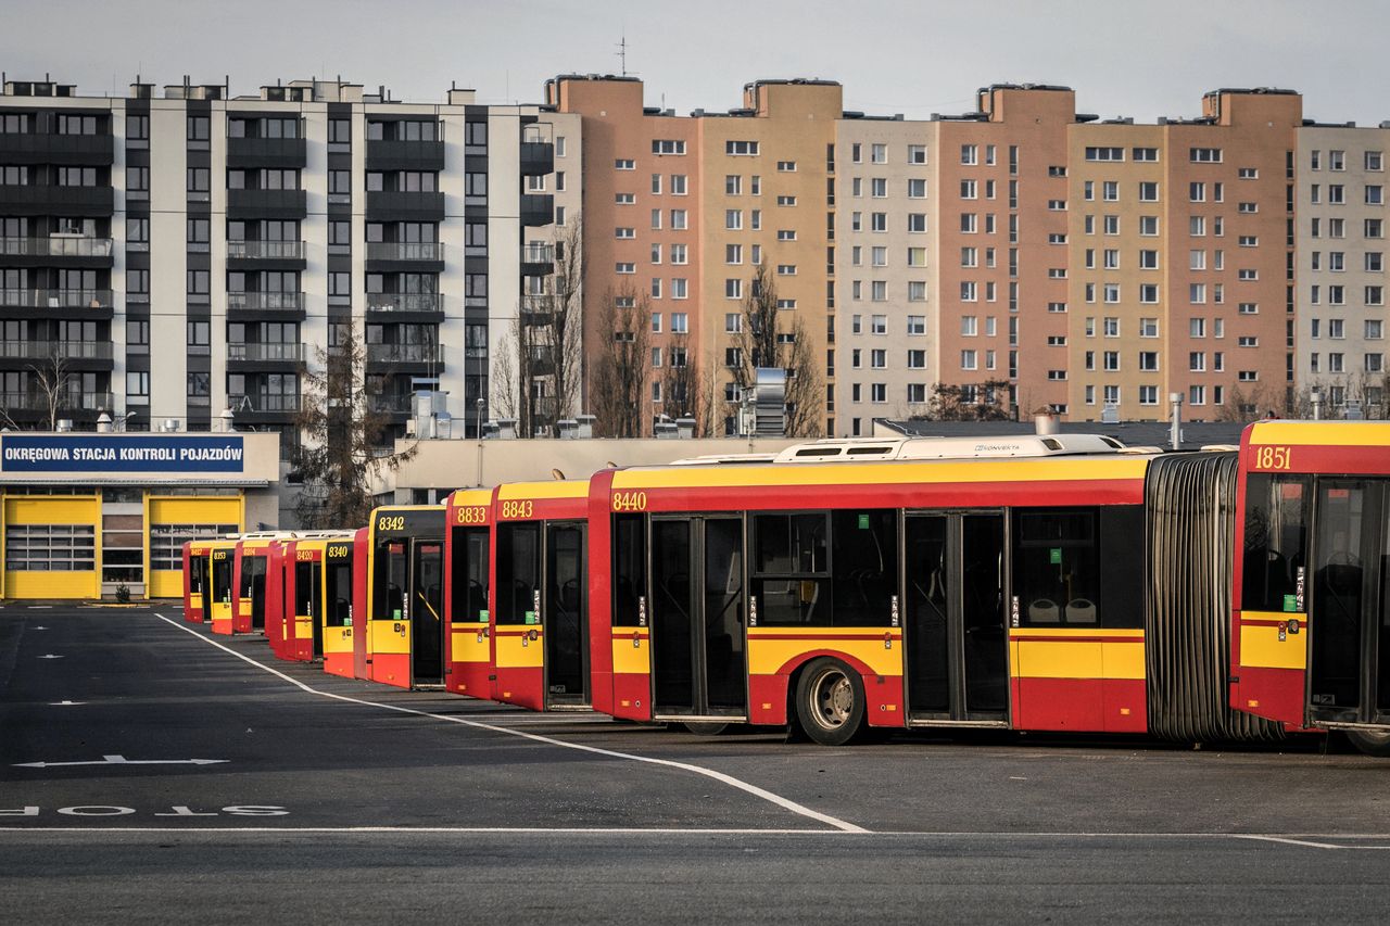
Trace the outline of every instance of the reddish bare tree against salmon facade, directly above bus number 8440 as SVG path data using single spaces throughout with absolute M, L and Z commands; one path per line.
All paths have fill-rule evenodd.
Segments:
M 591 406 L 607 437 L 641 437 L 646 425 L 648 346 L 652 303 L 631 288 L 609 292 L 599 306 L 603 343 L 595 345 Z

